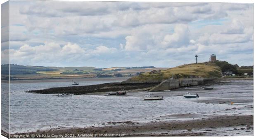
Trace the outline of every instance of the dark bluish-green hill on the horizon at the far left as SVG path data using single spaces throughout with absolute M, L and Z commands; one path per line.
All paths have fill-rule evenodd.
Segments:
M 56 70 L 58 69 L 43 66 L 10 65 L 10 74 L 37 74 L 37 72 Z M 1 74 L 9 74 L 9 65 L 1 65 Z

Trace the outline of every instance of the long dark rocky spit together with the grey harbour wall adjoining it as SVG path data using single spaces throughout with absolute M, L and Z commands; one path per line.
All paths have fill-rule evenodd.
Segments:
M 95 92 L 111 92 L 124 90 L 134 90 L 152 87 L 149 91 L 171 90 L 185 86 L 198 86 L 214 78 L 184 78 L 184 79 L 167 79 L 167 80 L 152 80 L 152 81 L 123 81 L 115 83 L 102 83 L 88 86 L 68 86 L 68 87 L 53 87 L 42 90 L 28 90 L 28 93 L 39 94 L 64 94 L 71 93 L 74 95 L 83 95 Z

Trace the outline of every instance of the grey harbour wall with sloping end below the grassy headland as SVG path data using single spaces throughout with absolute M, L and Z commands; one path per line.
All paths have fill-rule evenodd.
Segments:
M 175 88 L 185 87 L 185 86 L 198 86 L 204 84 L 204 81 L 210 81 L 214 78 L 183 78 L 183 79 L 166 79 L 159 83 L 159 85 L 153 87 L 149 91 L 163 91 L 171 90 Z

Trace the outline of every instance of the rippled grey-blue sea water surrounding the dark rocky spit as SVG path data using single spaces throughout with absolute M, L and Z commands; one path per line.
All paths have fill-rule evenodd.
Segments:
M 123 79 L 125 80 L 125 79 Z M 120 79 L 105 81 L 79 81 L 80 85 L 116 82 Z M 230 82 L 227 86 L 237 86 L 233 92 L 253 93 L 253 81 Z M 10 86 L 10 132 L 31 132 L 57 127 L 85 127 L 115 121 L 148 122 L 168 114 L 216 114 L 225 113 L 230 105 L 198 103 L 182 96 L 165 97 L 160 101 L 143 101 L 143 95 L 104 96 L 73 95 L 56 97 L 52 94 L 31 94 L 26 90 L 70 86 L 70 82 L 12 83 Z M 225 86 L 219 86 L 225 92 Z M 223 90 L 224 89 L 224 90 Z M 140 94 L 140 93 L 138 93 Z M 141 94 L 145 94 L 142 92 Z M 201 99 L 201 98 L 200 98 Z M 242 107 L 242 106 L 241 106 Z

